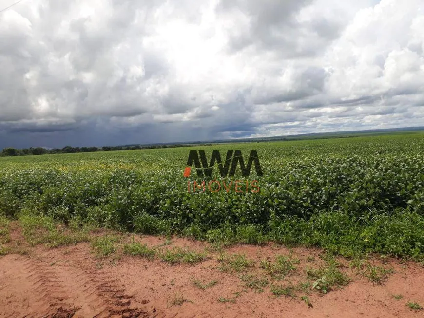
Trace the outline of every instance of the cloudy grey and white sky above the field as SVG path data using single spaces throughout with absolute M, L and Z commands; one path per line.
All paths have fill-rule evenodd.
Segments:
M 422 0 L 23 0 L 0 148 L 424 126 L 423 31 Z

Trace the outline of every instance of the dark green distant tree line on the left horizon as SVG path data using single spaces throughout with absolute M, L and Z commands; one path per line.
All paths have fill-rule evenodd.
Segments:
M 203 144 L 202 146 L 205 146 Z M 212 144 L 207 144 L 212 145 Z M 4 148 L 0 157 L 7 156 L 29 156 L 29 155 L 40 155 L 40 154 L 56 154 L 56 153 L 78 153 L 78 152 L 96 152 L 96 151 L 116 151 L 116 150 L 136 150 L 136 149 L 155 149 L 155 148 L 174 148 L 174 147 L 188 147 L 193 144 L 175 144 L 175 145 L 132 145 L 132 146 L 104 146 L 104 147 L 71 147 L 66 146 L 63 148 L 46 149 L 43 147 L 27 148 L 27 149 L 16 149 L 16 148 Z

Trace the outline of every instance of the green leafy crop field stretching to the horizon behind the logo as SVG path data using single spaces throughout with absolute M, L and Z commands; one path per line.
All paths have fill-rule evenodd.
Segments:
M 188 191 L 189 150 L 257 150 L 259 193 Z M 194 171 L 194 170 L 193 170 Z M 220 180 L 218 168 L 212 178 Z M 0 215 L 210 243 L 424 255 L 424 133 L 0 158 Z

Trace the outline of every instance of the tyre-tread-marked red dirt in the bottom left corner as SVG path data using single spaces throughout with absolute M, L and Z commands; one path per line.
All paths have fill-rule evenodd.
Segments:
M 132 295 L 94 270 L 22 256 L 0 259 L 0 267 L 7 273 L 0 278 L 0 317 L 149 317 L 132 306 Z

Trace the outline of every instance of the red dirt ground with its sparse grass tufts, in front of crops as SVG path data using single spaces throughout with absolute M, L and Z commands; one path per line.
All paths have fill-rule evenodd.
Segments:
M 122 244 L 131 242 L 157 253 L 207 251 L 207 257 L 171 265 L 125 254 Z M 268 244 L 214 251 L 187 239 L 122 234 L 119 244 L 103 257 L 91 243 L 31 247 L 12 224 L 11 252 L 0 257 L 0 317 L 423 317 L 423 310 L 407 305 L 424 304 L 424 268 L 416 262 L 370 258 L 369 268 L 390 268 L 373 276 L 365 263 L 354 268 L 332 259 L 332 268 L 350 281 L 322 293 L 306 284 L 316 281 L 308 268 L 329 268 L 319 249 Z M 276 255 L 284 256 L 287 268 L 270 269 Z

